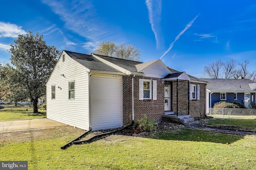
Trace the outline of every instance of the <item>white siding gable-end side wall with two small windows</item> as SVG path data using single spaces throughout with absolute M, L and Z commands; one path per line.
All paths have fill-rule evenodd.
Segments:
M 46 86 L 47 118 L 81 129 L 89 129 L 89 90 L 86 68 L 68 57 L 60 57 Z M 63 77 L 60 74 L 64 74 Z M 68 82 L 75 81 L 75 99 L 68 99 Z M 51 98 L 55 85 L 56 98 Z M 60 88 L 62 88 L 60 90 Z

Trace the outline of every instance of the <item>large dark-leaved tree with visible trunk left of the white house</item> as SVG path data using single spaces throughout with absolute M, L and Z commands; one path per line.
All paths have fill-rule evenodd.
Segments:
M 24 87 L 33 102 L 34 113 L 38 113 L 37 101 L 46 93 L 45 83 L 50 76 L 60 52 L 54 46 L 46 45 L 43 35 L 18 35 L 10 44 L 11 63 L 22 72 Z

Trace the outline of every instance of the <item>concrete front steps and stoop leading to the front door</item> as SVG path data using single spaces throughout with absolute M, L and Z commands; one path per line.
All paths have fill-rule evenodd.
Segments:
M 181 122 L 183 125 L 187 127 L 199 127 L 198 121 L 194 121 L 194 118 L 191 118 L 190 115 L 187 114 L 175 114 L 173 111 L 165 112 L 164 115 L 162 115 L 164 119 L 176 119 L 177 121 Z

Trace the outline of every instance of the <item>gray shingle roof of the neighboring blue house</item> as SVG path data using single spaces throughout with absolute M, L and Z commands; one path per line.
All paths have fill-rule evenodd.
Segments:
M 207 88 L 212 92 L 250 92 L 256 82 L 248 79 L 203 79 L 209 82 Z

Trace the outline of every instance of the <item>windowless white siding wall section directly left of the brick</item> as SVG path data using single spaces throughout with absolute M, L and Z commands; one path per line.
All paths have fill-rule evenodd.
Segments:
M 92 131 L 123 125 L 122 76 L 94 75 L 90 77 Z

